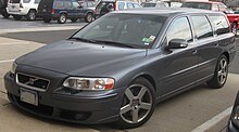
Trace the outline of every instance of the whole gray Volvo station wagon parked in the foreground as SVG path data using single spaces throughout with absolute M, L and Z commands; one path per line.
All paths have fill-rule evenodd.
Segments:
M 204 82 L 223 88 L 235 54 L 223 13 L 116 11 L 18 57 L 4 83 L 11 103 L 34 115 L 135 128 L 175 94 Z

